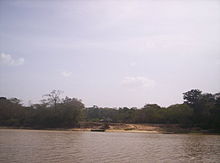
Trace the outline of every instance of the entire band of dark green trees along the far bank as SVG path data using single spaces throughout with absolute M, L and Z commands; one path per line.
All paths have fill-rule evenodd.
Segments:
M 165 123 L 182 127 L 201 127 L 220 131 L 220 93 L 202 93 L 193 89 L 183 93 L 183 104 L 143 108 L 85 108 L 75 98 L 60 99 L 60 91 L 45 95 L 41 104 L 22 106 L 16 98 L 0 98 L 0 125 L 33 128 L 77 127 L 81 121 L 120 123 Z

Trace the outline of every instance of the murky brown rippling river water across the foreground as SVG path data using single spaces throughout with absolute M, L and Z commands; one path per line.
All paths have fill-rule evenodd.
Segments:
M 0 129 L 0 162 L 220 162 L 220 136 Z

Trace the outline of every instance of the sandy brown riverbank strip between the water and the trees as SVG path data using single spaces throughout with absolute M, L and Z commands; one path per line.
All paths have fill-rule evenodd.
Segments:
M 77 128 L 31 128 L 31 127 L 5 127 L 0 129 L 28 129 L 28 130 L 56 130 L 56 131 L 91 131 L 103 126 L 101 122 L 80 122 Z M 151 134 L 220 134 L 213 130 L 200 128 L 182 128 L 177 124 L 125 124 L 109 123 L 105 132 L 132 132 Z

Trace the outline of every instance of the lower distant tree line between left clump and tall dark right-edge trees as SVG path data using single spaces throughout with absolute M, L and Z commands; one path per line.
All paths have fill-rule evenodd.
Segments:
M 120 123 L 191 123 L 192 108 L 187 104 L 171 105 L 168 108 L 157 104 L 147 104 L 141 109 L 123 107 L 99 108 L 92 107 L 84 110 L 87 121 L 100 121 L 110 118 Z

